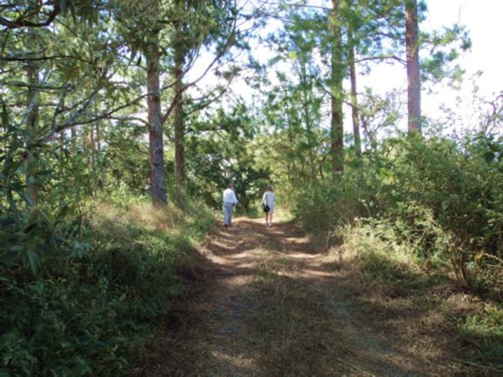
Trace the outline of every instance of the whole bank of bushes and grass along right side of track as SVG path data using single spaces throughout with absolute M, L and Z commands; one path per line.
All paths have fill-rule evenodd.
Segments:
M 460 359 L 501 369 L 503 139 L 404 135 L 347 166 L 298 188 L 302 227 L 327 246 L 344 240 L 385 297 L 413 297 L 446 318 Z M 456 292 L 491 309 L 455 311 L 446 302 Z

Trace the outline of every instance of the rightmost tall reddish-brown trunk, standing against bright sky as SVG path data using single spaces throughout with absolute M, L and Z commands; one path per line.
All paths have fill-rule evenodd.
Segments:
M 407 110 L 409 133 L 421 133 L 421 76 L 419 71 L 417 0 L 405 1 L 405 40 L 407 46 Z

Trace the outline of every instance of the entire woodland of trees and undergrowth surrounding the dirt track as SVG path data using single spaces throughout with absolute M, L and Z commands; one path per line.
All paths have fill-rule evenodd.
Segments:
M 421 112 L 483 77 L 459 64 L 462 24 L 423 29 L 409 0 L 0 11 L 1 373 L 127 370 L 228 182 L 240 214 L 273 184 L 312 237 L 357 233 L 368 255 L 379 239 L 381 263 L 399 250 L 458 281 L 487 302 L 456 319 L 460 341 L 501 367 L 503 95 Z M 392 63 L 398 86 L 368 80 Z

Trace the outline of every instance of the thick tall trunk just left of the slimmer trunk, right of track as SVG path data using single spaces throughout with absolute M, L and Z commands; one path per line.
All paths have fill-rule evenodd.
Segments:
M 344 172 L 344 124 L 342 114 L 342 80 L 344 80 L 344 64 L 342 63 L 342 35 L 340 25 L 339 0 L 332 0 L 330 28 L 333 34 L 332 72 L 331 72 L 331 111 L 330 147 L 332 152 L 332 171 Z

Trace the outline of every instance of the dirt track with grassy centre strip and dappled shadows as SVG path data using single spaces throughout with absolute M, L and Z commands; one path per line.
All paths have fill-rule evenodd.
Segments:
M 361 258 L 327 250 L 293 223 L 266 228 L 263 220 L 237 219 L 215 230 L 200 254 L 182 269 L 184 297 L 134 375 L 498 373 L 463 359 L 448 318 L 477 303 L 463 302 L 453 284 L 425 282 L 414 294 L 376 286 Z

